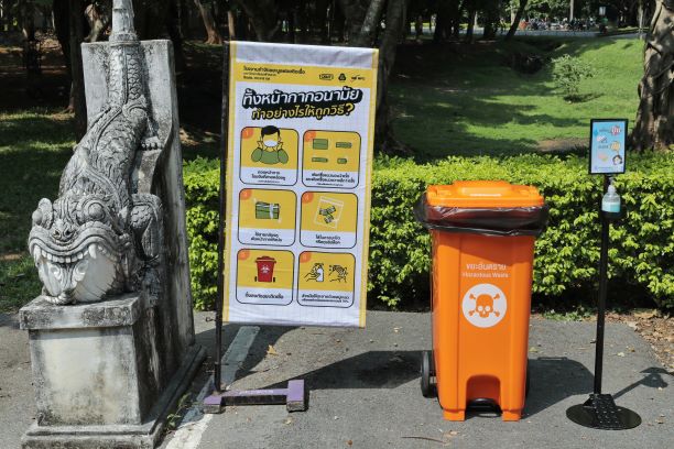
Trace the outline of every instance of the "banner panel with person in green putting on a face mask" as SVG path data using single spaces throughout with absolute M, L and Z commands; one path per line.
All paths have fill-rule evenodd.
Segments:
M 241 130 L 240 178 L 247 184 L 293 185 L 297 182 L 297 131 L 247 127 Z

